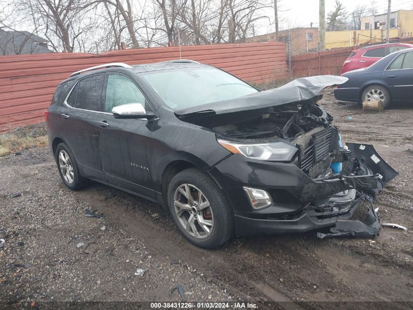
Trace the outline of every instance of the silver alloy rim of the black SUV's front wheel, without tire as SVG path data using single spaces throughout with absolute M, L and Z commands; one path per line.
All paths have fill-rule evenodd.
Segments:
M 174 210 L 182 227 L 193 237 L 204 239 L 214 228 L 211 205 L 198 188 L 180 185 L 174 194 Z

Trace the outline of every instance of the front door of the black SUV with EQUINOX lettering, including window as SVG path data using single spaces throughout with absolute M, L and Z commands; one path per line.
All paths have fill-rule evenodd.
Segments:
M 146 119 L 115 119 L 115 106 L 141 103 L 153 112 L 137 84 L 125 74 L 107 73 L 104 90 L 104 112 L 100 121 L 100 151 L 106 181 L 122 189 L 155 197 L 151 167 L 152 121 Z

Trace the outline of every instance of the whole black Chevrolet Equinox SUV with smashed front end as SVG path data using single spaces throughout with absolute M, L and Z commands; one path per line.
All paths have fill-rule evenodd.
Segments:
M 343 146 L 317 105 L 326 86 L 346 80 L 261 92 L 189 60 L 92 67 L 57 87 L 49 144 L 69 189 L 92 179 L 155 201 L 201 247 L 333 226 L 319 237 L 373 236 L 372 207 L 371 221 L 349 219 L 397 173 L 371 145 Z

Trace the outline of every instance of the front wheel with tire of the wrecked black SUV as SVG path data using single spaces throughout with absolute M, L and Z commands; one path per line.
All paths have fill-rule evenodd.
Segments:
M 196 168 L 174 176 L 168 204 L 176 226 L 196 246 L 215 248 L 234 236 L 234 215 L 227 199 L 217 183 Z

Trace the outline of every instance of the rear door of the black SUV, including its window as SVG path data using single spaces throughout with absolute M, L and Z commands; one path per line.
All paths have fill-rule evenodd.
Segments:
M 73 152 L 84 177 L 104 177 L 98 144 L 105 74 L 78 81 L 62 106 L 59 133 Z

